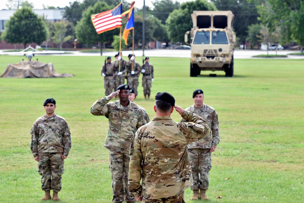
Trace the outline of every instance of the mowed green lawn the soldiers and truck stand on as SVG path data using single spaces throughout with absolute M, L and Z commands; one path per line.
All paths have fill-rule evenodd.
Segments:
M 103 147 L 108 120 L 90 113 L 92 104 L 105 96 L 100 75 L 104 56 L 38 58 L 52 62 L 58 73 L 75 76 L 0 78 L 0 202 L 42 202 L 29 132 L 45 113 L 43 101 L 48 97 L 55 98 L 56 113 L 72 132 L 61 202 L 112 202 L 109 150 Z M 1 56 L 0 73 L 21 59 Z M 212 153 L 209 202 L 304 202 L 304 60 L 235 59 L 232 78 L 224 72 L 190 77 L 188 58 L 150 57 L 150 63 L 151 99 L 143 99 L 140 76 L 135 100 L 150 119 L 155 116 L 154 96 L 164 91 L 186 108 L 200 88 L 204 102 L 218 113 L 221 142 Z M 171 117 L 181 119 L 176 111 Z M 186 202 L 203 202 L 191 201 L 191 195 L 187 189 Z

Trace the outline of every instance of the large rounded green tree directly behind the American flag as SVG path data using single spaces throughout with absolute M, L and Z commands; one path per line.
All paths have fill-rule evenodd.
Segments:
M 76 37 L 78 43 L 95 44 L 100 42 L 101 45 L 113 40 L 113 36 L 119 34 L 119 29 L 110 30 L 101 34 L 97 34 L 92 24 L 91 16 L 96 13 L 113 9 L 105 2 L 97 2 L 94 6 L 89 6 L 82 13 L 81 20 L 75 26 Z M 102 46 L 100 46 L 100 54 L 102 55 Z

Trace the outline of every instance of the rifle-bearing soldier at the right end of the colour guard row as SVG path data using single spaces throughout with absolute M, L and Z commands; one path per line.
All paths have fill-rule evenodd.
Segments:
M 150 99 L 152 82 L 154 80 L 153 65 L 149 64 L 149 57 L 145 58 L 146 63 L 142 65 L 141 72 L 143 73 L 143 95 L 145 99 Z

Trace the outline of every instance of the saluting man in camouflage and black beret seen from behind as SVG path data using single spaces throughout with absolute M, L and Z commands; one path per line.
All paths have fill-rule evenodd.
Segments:
M 174 108 L 188 123 L 170 118 Z M 169 93 L 157 93 L 154 111 L 156 117 L 131 139 L 129 191 L 137 201 L 183 203 L 192 185 L 187 145 L 210 130 L 204 119 L 175 105 Z

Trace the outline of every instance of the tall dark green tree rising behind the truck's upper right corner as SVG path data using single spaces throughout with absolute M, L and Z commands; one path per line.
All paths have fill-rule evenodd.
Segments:
M 212 0 L 212 2 L 219 11 L 232 11 L 234 14 L 233 29 L 236 36 L 245 44 L 248 26 L 258 23 L 257 2 L 248 3 L 247 0 Z

